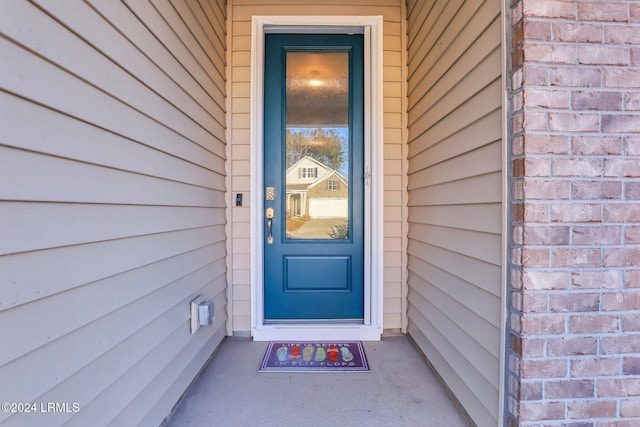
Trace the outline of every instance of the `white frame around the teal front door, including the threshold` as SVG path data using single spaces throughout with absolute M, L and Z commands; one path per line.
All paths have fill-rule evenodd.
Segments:
M 251 31 L 251 335 L 269 340 L 377 341 L 383 331 L 384 170 L 382 16 L 254 16 Z M 362 28 L 365 43 L 365 260 L 363 324 L 264 323 L 264 34 L 270 31 L 347 33 Z

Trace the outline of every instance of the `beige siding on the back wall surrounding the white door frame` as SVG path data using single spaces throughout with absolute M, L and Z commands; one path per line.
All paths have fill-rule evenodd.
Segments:
M 384 329 L 402 327 L 403 188 L 402 148 L 402 9 L 400 0 L 230 0 L 231 169 L 233 196 L 244 194 L 244 206 L 232 208 L 233 330 L 251 329 L 250 292 L 250 91 L 251 19 L 253 16 L 383 16 L 384 30 Z M 259 161 L 259 159 L 256 159 Z

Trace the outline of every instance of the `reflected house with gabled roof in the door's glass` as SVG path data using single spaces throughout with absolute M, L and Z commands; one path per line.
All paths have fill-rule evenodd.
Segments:
M 287 217 L 347 218 L 349 181 L 340 172 L 305 156 L 287 169 Z

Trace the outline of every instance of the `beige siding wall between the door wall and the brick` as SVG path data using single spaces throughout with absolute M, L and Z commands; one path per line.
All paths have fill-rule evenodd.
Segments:
M 407 6 L 408 332 L 479 426 L 499 418 L 500 11 Z

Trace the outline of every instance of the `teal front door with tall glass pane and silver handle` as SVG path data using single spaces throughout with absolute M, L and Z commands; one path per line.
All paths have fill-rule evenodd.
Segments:
M 363 321 L 363 47 L 266 35 L 266 322 Z

